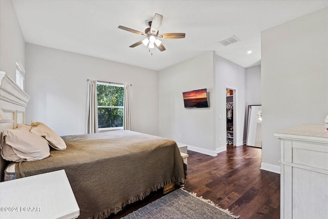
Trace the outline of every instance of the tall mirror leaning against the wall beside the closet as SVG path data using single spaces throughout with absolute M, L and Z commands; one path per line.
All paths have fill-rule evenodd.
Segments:
M 246 145 L 262 148 L 262 106 L 248 106 Z

